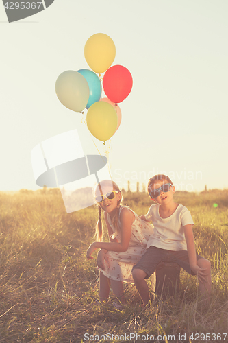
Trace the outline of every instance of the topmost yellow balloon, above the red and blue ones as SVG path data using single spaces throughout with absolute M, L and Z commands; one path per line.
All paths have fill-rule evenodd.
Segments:
M 93 34 L 86 42 L 84 55 L 95 73 L 103 73 L 112 65 L 116 56 L 114 41 L 107 34 Z

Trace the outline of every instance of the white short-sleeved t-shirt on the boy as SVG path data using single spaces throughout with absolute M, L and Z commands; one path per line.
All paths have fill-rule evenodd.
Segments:
M 160 204 L 151 205 L 148 213 L 145 215 L 146 220 L 153 222 L 153 235 L 147 242 L 149 246 L 156 246 L 166 250 L 187 250 L 183 226 L 192 224 L 192 215 L 188 209 L 179 204 L 177 209 L 168 218 L 162 218 L 159 214 Z

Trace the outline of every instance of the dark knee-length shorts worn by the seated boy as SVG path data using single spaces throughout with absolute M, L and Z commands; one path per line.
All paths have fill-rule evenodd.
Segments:
M 197 254 L 197 261 L 199 259 L 203 259 L 203 257 Z M 148 279 L 155 272 L 160 262 L 175 262 L 188 274 L 195 275 L 190 268 L 187 250 L 173 251 L 157 248 L 156 246 L 150 246 L 132 270 L 143 270 L 147 274 L 145 279 Z

